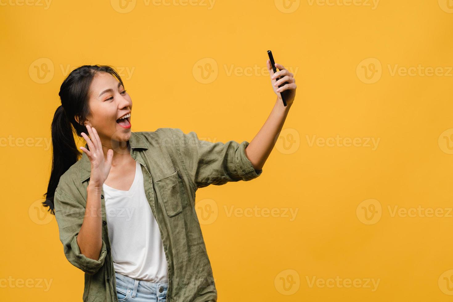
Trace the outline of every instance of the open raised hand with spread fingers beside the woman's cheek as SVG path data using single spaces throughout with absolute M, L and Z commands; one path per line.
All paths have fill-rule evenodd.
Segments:
M 83 132 L 82 136 L 87 141 L 90 150 L 87 150 L 84 147 L 80 147 L 80 149 L 82 149 L 83 152 L 87 153 L 87 156 L 91 162 L 90 185 L 101 187 L 110 173 L 113 150 L 109 149 L 107 151 L 107 160 L 105 160 L 104 151 L 102 151 L 101 139 L 99 139 L 99 135 L 97 135 L 96 129 L 87 125 L 87 130 L 92 139 L 90 139 L 90 137 L 88 137 L 87 134 Z

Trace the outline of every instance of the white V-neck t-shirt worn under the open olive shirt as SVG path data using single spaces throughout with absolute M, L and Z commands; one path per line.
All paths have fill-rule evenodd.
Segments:
M 136 162 L 129 191 L 103 184 L 111 256 L 115 272 L 131 278 L 168 283 L 167 259 L 159 226 L 145 196 Z

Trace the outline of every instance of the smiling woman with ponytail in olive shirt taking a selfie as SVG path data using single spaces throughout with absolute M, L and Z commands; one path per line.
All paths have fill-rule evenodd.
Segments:
M 293 74 L 275 66 L 274 75 L 267 61 L 275 106 L 241 144 L 177 128 L 132 132 L 132 101 L 110 66 L 81 66 L 63 81 L 43 205 L 66 258 L 85 272 L 83 301 L 217 301 L 195 192 L 262 173 L 296 89 Z M 283 82 L 287 106 L 277 90 Z M 80 160 L 74 132 L 87 142 Z

